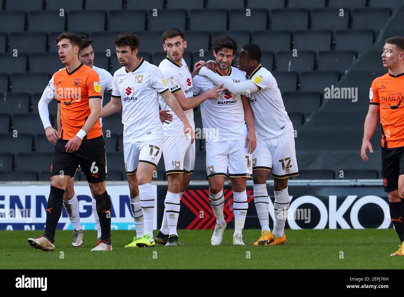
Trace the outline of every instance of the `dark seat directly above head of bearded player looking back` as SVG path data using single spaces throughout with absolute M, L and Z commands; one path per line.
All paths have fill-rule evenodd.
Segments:
M 187 11 L 183 9 L 164 9 L 158 11 L 157 16 L 153 16 L 153 14 L 153 11 L 147 13 L 149 31 L 157 32 L 166 28 L 177 28 L 182 31 L 185 30 Z

